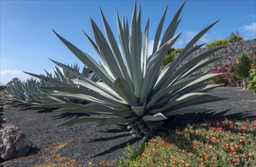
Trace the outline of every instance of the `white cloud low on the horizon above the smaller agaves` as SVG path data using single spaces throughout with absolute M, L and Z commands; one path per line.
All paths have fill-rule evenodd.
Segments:
M 0 83 L 1 84 L 8 83 L 14 77 L 18 77 L 20 80 L 27 80 L 27 78 L 30 78 L 30 75 L 25 74 L 24 72 L 18 71 L 18 70 L 0 71 Z

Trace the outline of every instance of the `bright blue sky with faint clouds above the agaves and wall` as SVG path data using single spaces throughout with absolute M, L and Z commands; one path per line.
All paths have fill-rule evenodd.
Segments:
M 55 65 L 48 58 L 65 64 L 80 61 L 55 36 L 52 29 L 78 48 L 98 60 L 96 52 L 88 43 L 82 30 L 90 37 L 93 33 L 90 17 L 103 30 L 100 8 L 106 15 L 117 36 L 116 11 L 125 14 L 128 20 L 134 1 L 5 1 L 1 2 L 1 76 L 0 83 L 7 83 L 13 77 L 24 80 L 28 76 L 22 71 L 43 74 L 52 71 Z M 163 30 L 183 1 L 137 1 L 142 7 L 142 27 L 150 17 L 150 42 L 163 10 L 169 3 Z M 250 1 L 194 1 L 188 0 L 182 11 L 182 21 L 176 33 L 182 36 L 175 47 L 183 47 L 196 33 L 215 20 L 220 21 L 199 41 L 208 43 L 213 39 L 226 38 L 239 30 L 247 39 L 255 38 L 256 2 Z M 118 38 L 116 38 L 118 39 Z

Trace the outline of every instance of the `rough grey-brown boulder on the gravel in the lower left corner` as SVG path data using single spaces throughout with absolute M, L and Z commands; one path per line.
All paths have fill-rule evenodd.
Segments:
M 0 156 L 2 159 L 15 159 L 31 150 L 31 141 L 21 129 L 9 124 L 0 131 Z

